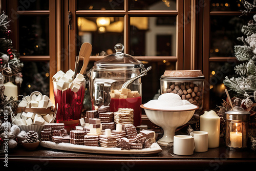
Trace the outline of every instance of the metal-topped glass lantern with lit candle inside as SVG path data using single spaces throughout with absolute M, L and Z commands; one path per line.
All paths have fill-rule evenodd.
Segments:
M 247 148 L 250 113 L 246 111 L 228 111 L 225 114 L 226 146 L 231 151 L 242 151 Z

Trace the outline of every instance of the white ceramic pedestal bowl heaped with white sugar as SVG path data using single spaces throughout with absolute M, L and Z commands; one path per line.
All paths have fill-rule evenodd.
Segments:
M 146 108 L 144 104 L 141 104 L 140 107 L 145 110 L 146 116 L 152 123 L 162 127 L 163 137 L 157 141 L 160 145 L 173 142 L 176 129 L 186 124 L 199 109 L 197 106 L 190 110 L 159 110 Z

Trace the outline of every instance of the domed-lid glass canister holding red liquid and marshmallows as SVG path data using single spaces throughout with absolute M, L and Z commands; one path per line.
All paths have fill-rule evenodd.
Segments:
M 142 62 L 123 53 L 122 44 L 116 44 L 116 53 L 105 56 L 94 63 L 90 71 L 90 95 L 93 110 L 101 105 L 109 105 L 111 112 L 120 108 L 134 110 L 134 125 L 141 124 L 141 79 L 135 79 L 129 86 L 123 84 L 140 76 L 145 71 Z

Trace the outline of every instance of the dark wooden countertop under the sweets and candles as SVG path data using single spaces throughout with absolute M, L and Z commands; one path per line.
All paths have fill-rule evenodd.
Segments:
M 173 150 L 169 152 L 173 154 Z M 27 151 L 22 146 L 9 149 L 8 169 L 18 170 L 242 170 L 256 164 L 256 152 L 230 151 L 224 143 L 191 156 L 170 155 L 167 148 L 156 155 L 98 155 L 57 151 L 39 146 Z M 5 153 L 0 154 L 1 167 Z M 2 167 L 3 168 L 3 167 Z

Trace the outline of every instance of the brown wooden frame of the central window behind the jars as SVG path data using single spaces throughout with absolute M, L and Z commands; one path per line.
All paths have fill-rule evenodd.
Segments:
M 194 1 L 194 0 L 193 0 Z M 130 17 L 133 16 L 176 16 L 177 17 L 177 31 L 176 31 L 176 56 L 134 56 L 139 60 L 150 60 L 150 61 L 160 61 L 168 60 L 177 62 L 176 69 L 183 70 L 183 0 L 177 0 L 177 10 L 168 11 L 168 10 L 130 10 L 129 0 L 124 0 L 124 10 L 77 10 L 76 1 L 69 1 L 69 11 L 72 13 L 72 29 L 69 30 L 70 37 L 70 46 L 77 44 L 76 35 L 78 33 L 77 29 L 77 17 L 79 16 L 120 16 L 124 17 L 124 53 L 130 52 Z M 181 32 L 178 29 L 182 30 Z M 70 47 L 71 48 L 71 47 Z M 77 50 L 70 51 L 69 53 L 69 68 L 74 69 L 75 66 L 75 57 L 77 55 Z M 91 56 L 91 61 L 96 61 L 104 56 Z M 67 70 L 68 68 L 65 68 Z

